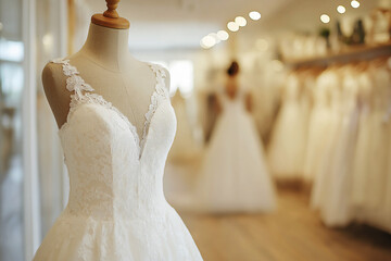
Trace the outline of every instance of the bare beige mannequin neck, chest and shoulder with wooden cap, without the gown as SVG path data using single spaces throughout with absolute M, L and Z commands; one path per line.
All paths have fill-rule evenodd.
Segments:
M 77 67 L 80 76 L 94 89 L 93 92 L 112 102 L 141 135 L 144 114 L 155 89 L 155 74 L 148 64 L 129 53 L 129 22 L 117 15 L 115 8 L 118 0 L 106 2 L 108 11 L 92 16 L 83 48 L 66 59 Z M 168 72 L 166 75 L 168 88 Z M 59 127 L 66 122 L 70 111 L 71 92 L 65 88 L 65 82 L 61 64 L 48 63 L 45 66 L 43 89 Z

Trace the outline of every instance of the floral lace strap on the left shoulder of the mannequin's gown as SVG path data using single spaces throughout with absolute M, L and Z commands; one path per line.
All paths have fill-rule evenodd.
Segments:
M 93 88 L 80 77 L 77 69 L 70 64 L 70 60 L 55 59 L 51 62 L 62 64 L 63 73 L 67 76 L 66 89 L 74 92 L 74 95 L 71 95 L 71 108 L 83 100 L 84 91 L 93 91 Z

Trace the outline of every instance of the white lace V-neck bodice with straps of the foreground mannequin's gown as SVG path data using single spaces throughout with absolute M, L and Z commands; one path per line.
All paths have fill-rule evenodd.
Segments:
M 65 211 L 99 220 L 159 219 L 167 204 L 163 171 L 176 130 L 165 71 L 149 64 L 156 85 L 139 137 L 128 119 L 94 94 L 68 60 L 52 62 L 62 64 L 72 92 L 67 121 L 59 130 L 71 183 Z

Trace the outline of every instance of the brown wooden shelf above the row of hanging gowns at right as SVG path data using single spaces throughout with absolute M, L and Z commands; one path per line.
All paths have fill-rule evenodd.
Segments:
M 374 60 L 376 58 L 391 55 L 391 41 L 387 44 L 379 44 L 376 46 L 354 46 L 345 50 L 342 50 L 338 53 L 328 53 L 323 57 L 303 59 L 303 60 L 287 60 L 285 61 L 286 65 L 290 67 L 308 67 L 308 66 L 320 66 L 327 67 L 329 65 L 339 63 L 352 63 Z

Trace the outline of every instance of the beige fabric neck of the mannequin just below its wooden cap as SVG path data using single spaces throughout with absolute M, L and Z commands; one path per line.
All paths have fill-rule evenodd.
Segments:
M 110 71 L 121 72 L 129 62 L 128 29 L 113 29 L 90 24 L 88 37 L 79 53 Z

